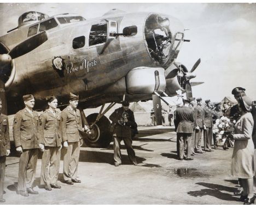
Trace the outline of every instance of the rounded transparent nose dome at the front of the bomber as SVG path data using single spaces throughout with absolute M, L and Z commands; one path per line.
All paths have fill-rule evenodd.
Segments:
M 179 20 L 163 14 L 149 14 L 144 26 L 148 53 L 158 66 L 169 66 L 177 58 L 184 27 Z

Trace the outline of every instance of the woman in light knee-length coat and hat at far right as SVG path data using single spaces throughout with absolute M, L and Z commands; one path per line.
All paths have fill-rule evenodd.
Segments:
M 232 155 L 231 174 L 241 178 L 243 192 L 240 197 L 244 204 L 254 203 L 253 176 L 254 176 L 254 144 L 252 140 L 253 117 L 249 112 L 252 100 L 249 97 L 240 97 L 238 106 L 241 117 L 235 124 L 235 146 Z

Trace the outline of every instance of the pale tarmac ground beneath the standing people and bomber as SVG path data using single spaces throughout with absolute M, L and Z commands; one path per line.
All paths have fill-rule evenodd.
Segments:
M 123 142 L 121 143 L 123 144 Z M 133 140 L 138 166 L 130 164 L 123 149 L 123 164 L 115 167 L 113 143 L 109 148 L 82 147 L 78 168 L 82 183 L 66 185 L 59 174 L 61 189 L 38 187 L 41 160 L 37 163 L 34 189 L 39 195 L 16 194 L 19 157 L 7 158 L 4 204 L 242 204 L 232 195 L 237 181 L 230 176 L 232 148 L 219 147 L 197 154 L 193 161 L 179 161 L 173 127 L 139 127 Z

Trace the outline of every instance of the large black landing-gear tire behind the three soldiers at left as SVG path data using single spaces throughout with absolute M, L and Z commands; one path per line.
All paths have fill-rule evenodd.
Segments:
M 90 114 L 87 117 L 88 123 L 92 124 L 96 118 L 97 113 Z M 97 123 L 92 126 L 92 134 L 87 138 L 84 138 L 86 145 L 92 148 L 107 148 L 112 141 L 112 134 L 109 132 L 110 121 L 103 115 Z

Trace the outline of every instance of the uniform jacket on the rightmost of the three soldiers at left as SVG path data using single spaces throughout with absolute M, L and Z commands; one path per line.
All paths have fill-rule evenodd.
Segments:
M 60 126 L 63 142 L 78 142 L 82 138 L 79 133 L 79 130 L 82 130 L 82 118 L 79 109 L 75 109 L 75 112 L 70 106 L 63 109 Z

